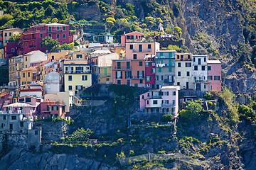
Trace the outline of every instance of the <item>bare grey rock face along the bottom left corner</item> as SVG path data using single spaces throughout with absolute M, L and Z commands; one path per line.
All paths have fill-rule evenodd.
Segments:
M 0 169 L 116 169 L 77 154 L 37 154 L 14 148 L 0 161 Z

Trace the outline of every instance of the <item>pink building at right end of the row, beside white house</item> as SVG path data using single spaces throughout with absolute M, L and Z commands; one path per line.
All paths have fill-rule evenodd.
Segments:
M 221 91 L 221 62 L 220 60 L 208 60 L 208 82 L 209 89 Z

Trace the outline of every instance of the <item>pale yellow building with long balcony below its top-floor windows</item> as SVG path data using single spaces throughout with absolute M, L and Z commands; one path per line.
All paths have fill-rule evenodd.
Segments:
M 92 86 L 92 72 L 86 60 L 64 61 L 64 91 L 75 91 Z

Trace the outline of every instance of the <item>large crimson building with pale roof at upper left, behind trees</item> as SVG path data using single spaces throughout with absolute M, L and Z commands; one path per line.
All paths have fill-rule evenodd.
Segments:
M 51 37 L 60 42 L 60 45 L 64 43 L 70 43 L 69 25 L 60 23 L 41 23 L 36 26 L 31 26 L 28 30 L 24 31 L 21 35 L 19 47 L 23 54 L 34 50 L 41 50 L 46 52 L 46 47 L 42 44 L 42 39 L 45 37 Z

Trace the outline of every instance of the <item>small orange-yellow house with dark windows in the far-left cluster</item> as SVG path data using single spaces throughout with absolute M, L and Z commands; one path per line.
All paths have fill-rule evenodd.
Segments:
M 36 67 L 28 67 L 21 70 L 21 86 L 28 86 L 36 81 Z

